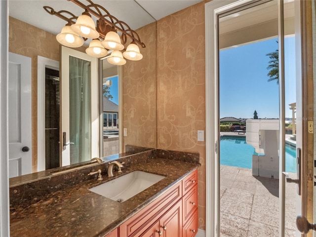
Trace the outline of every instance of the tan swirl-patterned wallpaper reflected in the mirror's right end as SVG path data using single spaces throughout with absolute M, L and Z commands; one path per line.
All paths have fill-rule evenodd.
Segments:
M 156 148 L 156 22 L 137 30 L 146 47 L 141 61 L 123 66 L 123 127 L 125 145 Z

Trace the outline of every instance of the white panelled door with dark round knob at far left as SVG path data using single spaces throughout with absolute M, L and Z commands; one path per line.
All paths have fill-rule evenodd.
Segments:
M 9 52 L 9 177 L 32 173 L 31 58 Z

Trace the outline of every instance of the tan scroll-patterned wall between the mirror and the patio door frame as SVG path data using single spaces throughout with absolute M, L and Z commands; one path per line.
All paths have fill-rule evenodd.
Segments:
M 200 2 L 157 22 L 157 148 L 197 152 L 198 228 L 205 229 L 205 33 Z

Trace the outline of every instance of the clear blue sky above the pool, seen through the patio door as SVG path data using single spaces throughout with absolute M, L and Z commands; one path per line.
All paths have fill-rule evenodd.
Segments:
M 268 82 L 270 58 L 277 49 L 275 39 L 220 51 L 220 118 L 279 118 L 278 85 Z M 295 39 L 285 39 L 285 117 L 295 102 Z

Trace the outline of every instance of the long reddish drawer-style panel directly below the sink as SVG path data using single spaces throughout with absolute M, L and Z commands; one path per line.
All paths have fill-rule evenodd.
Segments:
M 135 216 L 131 217 L 128 221 L 119 227 L 120 237 L 133 237 L 136 233 L 144 228 L 150 227 L 157 221 L 159 215 L 165 208 L 170 208 L 182 197 L 181 182 L 174 185 L 156 201 L 149 204 Z

